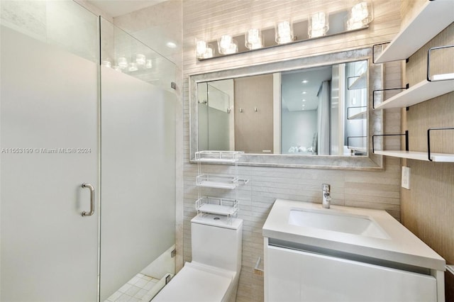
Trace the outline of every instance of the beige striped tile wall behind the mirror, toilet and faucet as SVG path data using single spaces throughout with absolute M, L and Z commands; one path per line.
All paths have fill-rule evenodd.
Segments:
M 220 35 L 244 33 L 249 26 L 271 28 L 278 16 L 290 16 L 296 20 L 304 19 L 309 11 L 329 8 L 340 11 L 345 1 L 221 1 L 221 0 L 184 0 L 183 5 L 183 83 L 184 101 L 183 144 L 184 147 L 184 189 L 177 205 L 183 203 L 182 219 L 182 259 L 191 261 L 191 224 L 196 215 L 194 201 L 198 189 L 195 186 L 196 164 L 189 163 L 189 76 L 221 69 L 231 69 L 257 65 L 277 60 L 291 60 L 297 57 L 336 52 L 340 49 L 371 47 L 375 43 L 392 40 L 400 30 L 399 1 L 375 0 L 375 20 L 367 30 L 331 38 L 322 38 L 294 45 L 274 47 L 242 55 L 219 57 L 199 62 L 194 57 L 196 38 L 216 40 Z M 387 84 L 398 86 L 401 67 L 386 69 Z M 393 85 L 395 84 L 395 85 Z M 400 113 L 384 116 L 386 129 L 399 129 Z M 398 141 L 399 142 L 399 141 Z M 391 142 L 390 142 L 391 143 Z M 394 143 L 394 142 L 392 142 Z M 210 172 L 227 173 L 231 167 L 206 165 Z M 240 167 L 241 177 L 250 179 L 238 189 L 239 214 L 243 225 L 243 265 L 238 287 L 238 302 L 263 301 L 263 276 L 254 274 L 258 257 L 263 257 L 262 225 L 276 198 L 292 199 L 301 202 L 320 203 L 321 184 L 331 184 L 333 203 L 345 206 L 361 206 L 388 211 L 399 219 L 399 159 L 385 159 L 383 171 L 364 172 L 338 169 L 297 169 L 279 167 Z M 224 193 L 225 194 L 225 193 Z M 178 215 L 179 213 L 177 213 Z M 180 229 L 177 229 L 179 232 Z M 180 252 L 180 251 L 177 251 Z M 182 262 L 177 267 L 182 266 Z

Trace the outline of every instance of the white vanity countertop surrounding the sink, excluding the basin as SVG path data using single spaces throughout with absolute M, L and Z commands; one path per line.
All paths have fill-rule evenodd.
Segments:
M 372 237 L 343 233 L 289 223 L 292 210 L 338 216 L 356 216 L 371 220 L 386 233 Z M 382 210 L 335 206 L 322 208 L 320 203 L 277 199 L 262 228 L 263 236 L 336 250 L 360 257 L 372 257 L 415 267 L 445 270 L 445 259 L 428 247 L 389 213 Z

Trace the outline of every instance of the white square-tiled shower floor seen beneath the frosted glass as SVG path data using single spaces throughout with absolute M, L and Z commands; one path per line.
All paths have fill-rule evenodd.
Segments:
M 157 284 L 159 279 L 152 278 L 144 274 L 136 274 L 128 283 L 121 286 L 112 296 L 107 298 L 105 302 L 143 302 L 150 301 L 152 296 L 148 294 L 150 289 Z

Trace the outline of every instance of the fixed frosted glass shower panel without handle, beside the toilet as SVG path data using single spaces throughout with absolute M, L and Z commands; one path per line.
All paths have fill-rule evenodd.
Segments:
M 102 18 L 101 38 L 101 301 L 142 299 L 175 245 L 175 65 Z

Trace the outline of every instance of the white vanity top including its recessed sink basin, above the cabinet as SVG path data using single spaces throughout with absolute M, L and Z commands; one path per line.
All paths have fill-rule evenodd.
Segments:
M 382 210 L 277 199 L 262 231 L 276 246 L 445 270 L 445 259 Z

